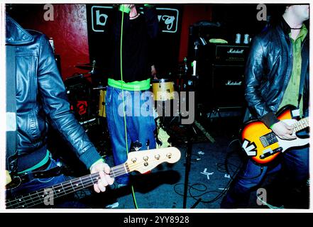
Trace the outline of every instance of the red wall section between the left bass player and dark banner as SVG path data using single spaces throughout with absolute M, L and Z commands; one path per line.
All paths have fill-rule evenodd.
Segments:
M 54 21 L 45 21 L 43 4 L 35 6 L 24 20 L 18 21 L 23 28 L 31 28 L 53 38 L 55 53 L 61 58 L 63 79 L 75 72 L 87 72 L 75 68 L 77 62 L 89 62 L 87 18 L 85 4 L 53 4 Z M 22 12 L 23 13 L 23 12 Z

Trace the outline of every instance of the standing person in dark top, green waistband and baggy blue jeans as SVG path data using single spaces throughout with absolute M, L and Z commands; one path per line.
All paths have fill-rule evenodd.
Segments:
M 145 4 L 143 14 L 135 4 L 118 8 L 113 22 L 112 74 L 106 91 L 115 165 L 126 161 L 132 142 L 141 143 L 141 150 L 155 148 L 153 100 L 145 91 L 150 89 L 151 74 L 156 74 L 152 48 L 158 33 L 155 6 Z M 116 182 L 118 186 L 129 184 L 129 175 L 116 177 Z

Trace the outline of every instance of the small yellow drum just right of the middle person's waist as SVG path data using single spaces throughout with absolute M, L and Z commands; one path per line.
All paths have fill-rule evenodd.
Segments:
M 155 101 L 174 99 L 174 83 L 170 79 L 153 79 L 152 91 Z

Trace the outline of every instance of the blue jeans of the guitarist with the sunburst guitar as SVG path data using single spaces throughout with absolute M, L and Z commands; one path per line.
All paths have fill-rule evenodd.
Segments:
M 293 180 L 295 187 L 305 184 L 309 179 L 309 147 L 291 148 L 280 155 L 282 155 L 281 163 L 287 170 L 290 179 Z M 247 208 L 252 189 L 260 186 L 267 173 L 277 172 L 280 167 L 280 164 L 273 168 L 260 167 L 248 160 L 224 196 L 221 208 Z

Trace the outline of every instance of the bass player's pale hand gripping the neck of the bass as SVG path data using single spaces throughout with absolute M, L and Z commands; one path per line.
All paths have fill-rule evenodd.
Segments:
M 110 173 L 110 167 L 104 162 L 97 162 L 94 165 L 92 165 L 90 169 L 91 173 L 99 172 L 100 179 L 96 184 L 94 184 L 94 191 L 99 192 L 105 192 L 106 186 L 113 184 L 114 178 L 111 178 L 109 176 Z

